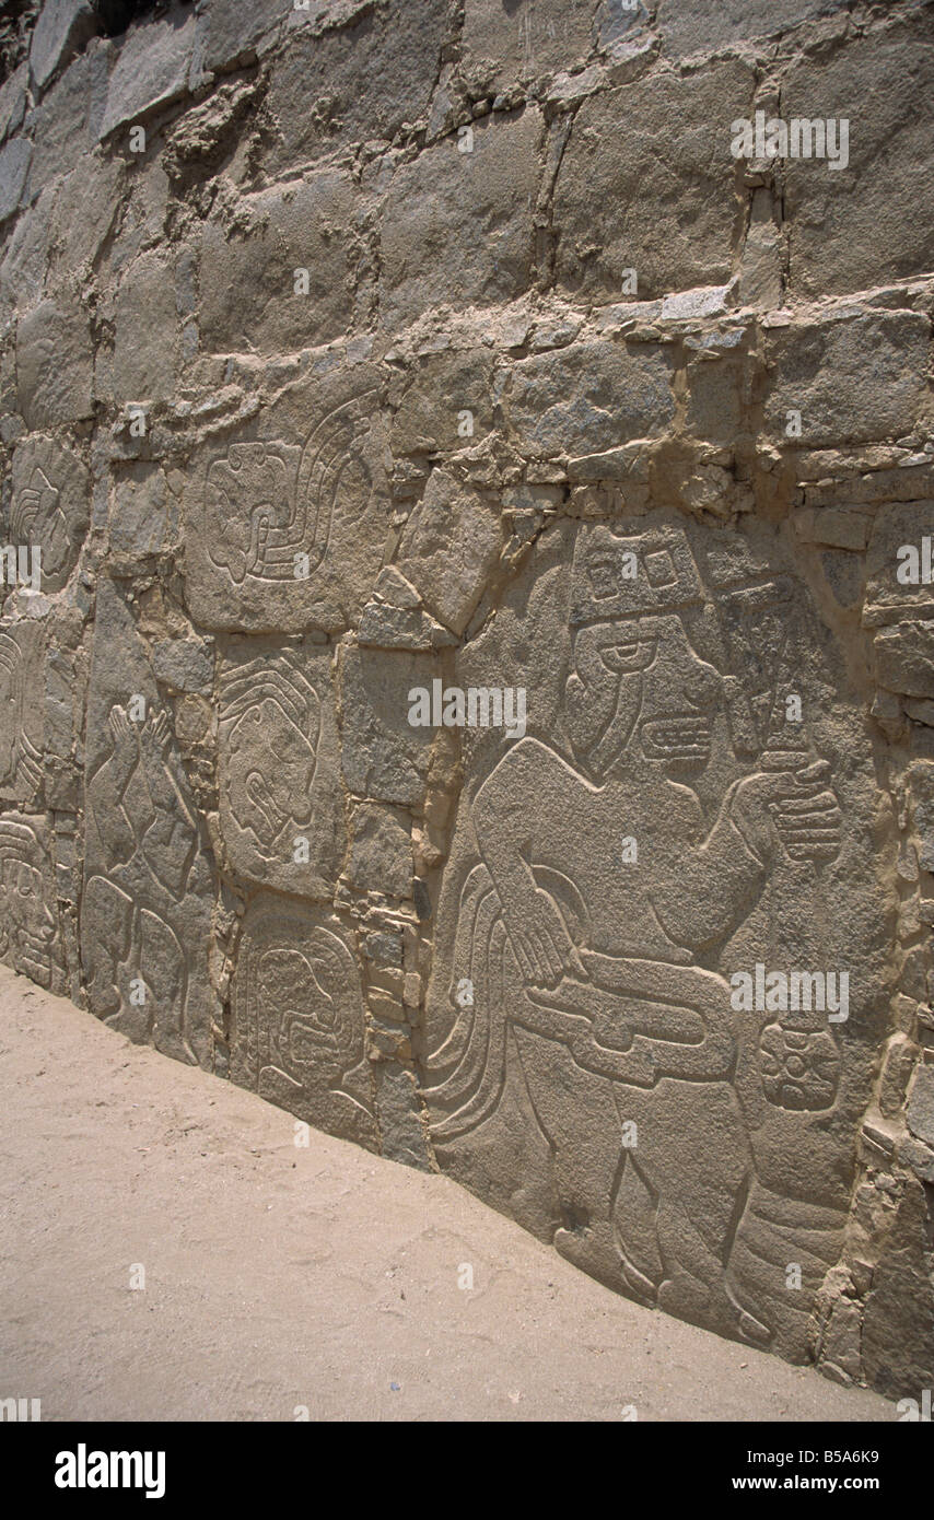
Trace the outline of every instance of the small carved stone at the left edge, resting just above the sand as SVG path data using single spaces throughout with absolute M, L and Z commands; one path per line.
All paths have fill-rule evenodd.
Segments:
M 52 986 L 55 915 L 47 900 L 47 862 L 24 818 L 0 818 L 0 959 Z

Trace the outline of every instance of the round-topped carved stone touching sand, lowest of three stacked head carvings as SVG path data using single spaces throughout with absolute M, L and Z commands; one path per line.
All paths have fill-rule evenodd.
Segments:
M 335 914 L 265 894 L 233 985 L 231 1076 L 327 1129 L 377 1148 L 361 974 Z

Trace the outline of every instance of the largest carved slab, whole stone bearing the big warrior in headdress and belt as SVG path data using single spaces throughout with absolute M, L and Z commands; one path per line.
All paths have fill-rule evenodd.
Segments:
M 438 1160 L 592 1275 L 794 1360 L 838 1260 L 890 909 L 858 699 L 779 541 L 653 517 L 543 535 L 458 684 L 427 996 Z M 841 973 L 849 1017 L 733 1000 Z M 832 983 L 826 983 L 832 990 Z

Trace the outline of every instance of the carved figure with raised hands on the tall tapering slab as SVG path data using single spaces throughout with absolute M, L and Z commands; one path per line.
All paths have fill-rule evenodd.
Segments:
M 114 707 L 110 734 L 110 755 L 88 781 L 93 856 L 106 868 L 84 892 L 88 1000 L 131 1040 L 152 1038 L 195 1062 L 186 1000 L 189 965 L 204 948 L 186 944 L 184 918 L 199 859 L 195 813 L 170 763 L 164 713 L 134 724 Z

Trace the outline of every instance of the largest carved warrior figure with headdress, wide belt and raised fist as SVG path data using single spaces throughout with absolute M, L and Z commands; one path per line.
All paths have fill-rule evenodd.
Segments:
M 499 1102 L 511 1029 L 552 1154 L 558 1249 L 643 1301 L 768 1344 L 785 1310 L 768 1283 L 747 1301 L 730 1272 L 744 1205 L 741 1230 L 771 1230 L 770 1251 L 789 1224 L 814 1227 L 812 1245 L 832 1225 L 824 1271 L 840 1221 L 756 1192 L 750 1129 L 765 1123 L 764 1105 L 783 1102 L 782 1070 L 811 1064 L 793 1107 L 828 1108 L 838 1052 L 826 1029 L 773 1023 L 768 1081 L 753 1093 L 742 1050 L 759 1029 L 741 1028 L 729 983 L 698 959 L 715 964 L 780 853 L 837 854 L 840 810 L 829 766 L 779 730 L 706 821 L 692 783 L 710 762 L 723 682 L 689 637 L 703 603 L 680 529 L 578 532 L 572 752 L 526 737 L 476 793 L 482 859 L 461 895 L 450 993 L 456 1006 L 470 977 L 475 1002 L 458 1008 L 435 1058 L 444 1079 L 426 1096 L 438 1145 L 475 1129 Z M 627 834 L 637 865 L 619 860 Z

